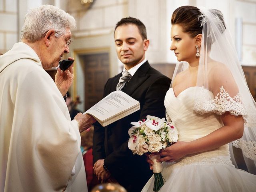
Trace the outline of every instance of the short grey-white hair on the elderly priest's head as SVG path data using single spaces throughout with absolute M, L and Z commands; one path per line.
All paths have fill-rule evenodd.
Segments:
M 26 14 L 20 38 L 36 42 L 50 29 L 64 35 L 67 29 L 75 27 L 76 21 L 70 14 L 52 5 L 42 5 Z M 59 37 L 58 34 L 55 36 Z

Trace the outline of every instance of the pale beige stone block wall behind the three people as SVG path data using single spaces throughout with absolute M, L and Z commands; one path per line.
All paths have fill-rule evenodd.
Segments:
M 77 22 L 73 31 L 71 54 L 81 48 L 110 48 L 110 75 L 116 74 L 122 64 L 115 56 L 112 34 L 118 20 L 134 16 L 142 20 L 148 30 L 150 47 L 146 57 L 151 63 L 175 63 L 170 52 L 170 17 L 182 5 L 205 6 L 220 9 L 234 40 L 239 40 L 235 19 L 242 20 L 241 63 L 256 66 L 256 0 L 94 0 L 86 10 L 80 0 L 0 0 L 0 52 L 6 52 L 19 41 L 25 13 L 41 4 L 58 5 L 69 12 Z M 103 40 L 104 37 L 108 39 Z M 119 66 L 119 67 L 118 67 Z

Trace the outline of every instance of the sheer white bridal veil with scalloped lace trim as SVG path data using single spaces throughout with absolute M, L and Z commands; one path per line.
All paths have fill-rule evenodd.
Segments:
M 248 171 L 256 174 L 256 103 L 222 13 L 215 9 L 199 10 L 202 43 L 196 86 L 200 91 L 195 94 L 194 110 L 199 114 L 229 112 L 244 118 L 244 135 L 232 144 L 242 150 Z M 187 68 L 187 62 L 178 62 L 172 79 Z M 232 155 L 232 147 L 230 152 Z M 234 164 L 236 160 L 232 159 Z

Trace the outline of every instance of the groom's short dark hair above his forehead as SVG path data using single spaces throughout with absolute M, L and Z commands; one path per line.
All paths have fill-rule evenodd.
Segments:
M 118 28 L 119 26 L 128 25 L 128 24 L 133 24 L 138 27 L 140 35 L 142 36 L 142 40 L 148 39 L 145 25 L 139 19 L 136 19 L 133 17 L 122 18 L 120 21 L 118 21 L 114 30 L 114 34 L 116 32 L 116 28 Z

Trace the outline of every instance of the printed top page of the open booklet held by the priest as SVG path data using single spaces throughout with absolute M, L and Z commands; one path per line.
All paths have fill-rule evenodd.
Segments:
M 139 102 L 126 93 L 114 91 L 84 112 L 84 114 L 91 114 L 99 120 L 104 121 L 137 104 Z

